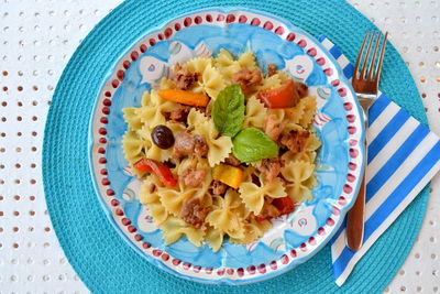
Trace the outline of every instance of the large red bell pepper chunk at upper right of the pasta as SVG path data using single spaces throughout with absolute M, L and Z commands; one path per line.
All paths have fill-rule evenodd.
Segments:
M 267 108 L 290 108 L 296 106 L 300 99 L 295 81 L 292 79 L 285 80 L 278 88 L 261 90 L 256 97 Z

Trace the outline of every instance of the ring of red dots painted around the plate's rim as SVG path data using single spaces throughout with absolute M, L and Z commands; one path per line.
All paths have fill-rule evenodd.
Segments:
M 206 14 L 206 15 L 205 15 L 205 20 L 206 20 L 207 22 L 210 22 L 210 23 L 211 23 L 211 22 L 213 22 L 215 18 L 213 18 L 211 14 Z M 223 22 L 224 20 L 227 21 L 227 23 L 232 23 L 232 22 L 235 22 L 235 21 L 239 22 L 239 23 L 246 23 L 249 19 L 248 19 L 246 15 L 240 15 L 240 17 L 238 17 L 238 18 L 237 18 L 234 14 L 228 14 L 227 17 L 224 17 L 223 14 L 218 14 L 218 15 L 217 15 L 217 21 L 218 21 L 218 22 Z M 182 20 L 180 20 L 180 21 L 182 21 Z M 202 19 L 200 15 L 193 15 L 193 18 L 191 18 L 191 17 L 186 17 L 186 18 L 182 21 L 182 24 L 183 24 L 184 26 L 190 26 L 191 24 L 200 24 L 200 23 L 202 23 L 202 21 L 204 21 L 204 19 Z M 251 23 L 252 25 L 257 25 L 257 26 L 260 26 L 260 25 L 262 24 L 262 21 L 261 21 L 258 18 L 252 18 L 252 20 L 251 20 L 250 23 Z M 179 22 L 175 23 L 175 24 L 174 24 L 174 30 L 175 30 L 175 31 L 182 30 L 182 24 L 180 24 Z M 276 25 L 274 25 L 274 23 L 273 23 L 272 21 L 266 21 L 266 22 L 264 22 L 263 28 L 266 29 L 266 30 L 270 30 L 270 31 L 274 30 L 274 28 L 275 28 L 274 33 L 277 34 L 277 35 L 283 35 L 283 34 L 285 33 L 285 30 L 284 30 L 283 26 L 279 26 L 279 25 L 276 26 Z M 158 40 L 169 39 L 169 37 L 172 36 L 172 34 L 173 34 L 173 29 L 172 29 L 172 28 L 166 28 L 166 29 L 164 30 L 163 33 L 158 33 L 158 34 L 157 34 L 157 39 L 158 39 Z M 288 33 L 287 33 L 287 36 L 286 36 L 286 41 L 288 41 L 288 42 L 294 42 L 295 40 L 296 40 L 295 33 L 288 32 Z M 148 44 L 150 44 L 151 46 L 154 46 L 154 45 L 156 44 L 156 39 L 151 37 L 151 39 L 148 40 Z M 300 47 L 304 47 L 304 48 L 306 48 L 307 45 L 308 45 L 307 42 L 306 42 L 306 40 L 299 40 L 299 41 L 297 42 L 297 44 L 298 44 Z M 147 50 L 147 46 L 146 46 L 145 44 L 141 44 L 140 47 L 139 47 L 139 51 L 140 51 L 141 53 L 145 53 L 146 50 Z M 317 53 L 317 50 L 316 50 L 315 47 L 308 48 L 308 50 L 307 50 L 307 54 L 308 54 L 309 56 L 311 56 L 311 57 L 318 57 L 318 56 L 317 56 L 318 53 Z M 139 56 L 140 56 L 139 52 L 134 50 L 134 51 L 132 51 L 132 52 L 130 53 L 129 58 L 130 58 L 132 62 L 135 62 L 135 61 L 139 58 Z M 326 59 L 324 59 L 324 57 L 322 57 L 322 56 L 319 56 L 316 61 L 317 61 L 318 65 L 320 65 L 320 66 L 323 66 L 323 65 L 326 64 Z M 123 78 L 124 78 L 124 74 L 125 74 L 124 70 L 127 70 L 130 66 L 131 66 L 131 62 L 128 61 L 128 59 L 125 59 L 125 61 L 122 63 L 122 68 L 119 69 L 119 70 L 117 72 L 116 78 L 114 78 L 113 80 L 109 81 L 109 83 L 110 83 L 110 86 L 111 86 L 113 89 L 117 89 L 117 88 L 120 86 L 120 80 L 123 80 Z M 333 75 L 333 69 L 332 69 L 331 67 L 324 68 L 323 72 L 324 72 L 324 74 L 326 74 L 327 76 L 332 76 L 332 75 Z M 333 87 L 338 87 L 338 86 L 341 85 L 341 83 L 340 83 L 339 79 L 334 79 L 334 80 L 331 81 L 331 85 L 332 85 Z M 339 94 L 342 98 L 344 98 L 344 97 L 346 97 L 348 91 L 346 91 L 346 89 L 345 89 L 344 87 L 340 87 L 340 88 L 338 89 L 338 94 Z M 103 94 L 103 96 L 107 97 L 107 98 L 102 100 L 102 106 L 103 106 L 103 107 L 102 107 L 102 112 L 103 112 L 106 116 L 108 116 L 108 115 L 110 113 L 110 106 L 111 106 L 111 99 L 109 99 L 109 98 L 112 97 L 112 91 L 107 90 L 107 91 Z M 353 109 L 353 105 L 352 105 L 350 101 L 345 101 L 345 102 L 344 102 L 344 108 L 345 108 L 346 111 L 351 111 L 351 110 Z M 348 116 L 346 116 L 346 120 L 348 120 L 350 123 L 354 123 L 354 122 L 356 121 L 356 119 L 358 119 L 358 118 L 356 118 L 356 116 L 354 116 L 354 115 L 348 115 Z M 99 121 L 100 121 L 102 124 L 107 124 L 107 123 L 108 123 L 107 117 L 102 117 Z M 354 133 L 356 132 L 356 128 L 355 128 L 354 126 L 349 126 L 348 130 L 349 130 L 349 133 L 350 133 L 350 134 L 354 134 Z M 99 128 L 99 129 L 98 129 L 98 133 L 101 134 L 101 135 L 107 135 L 106 126 Z M 356 140 L 352 140 L 352 141 L 350 141 L 350 142 L 354 142 L 353 144 L 351 144 L 352 146 L 355 145 L 355 144 L 358 143 Z M 100 139 L 99 139 L 99 143 L 100 143 L 100 144 L 107 144 L 106 138 L 100 138 Z M 105 148 L 99 148 L 99 149 L 98 149 L 98 153 L 105 154 L 105 153 L 106 153 L 106 149 L 105 149 Z M 353 149 L 353 148 L 350 149 L 350 155 L 351 155 L 351 157 L 356 157 L 356 156 L 359 155 L 359 150 L 358 150 L 358 149 Z M 107 163 L 107 160 L 106 160 L 105 157 L 100 157 L 100 159 L 99 159 L 99 163 L 100 163 L 100 164 L 106 164 L 106 163 Z M 349 168 L 350 168 L 351 171 L 355 171 L 356 167 L 358 167 L 358 165 L 356 165 L 355 163 L 353 163 L 353 162 L 350 162 L 350 163 L 349 163 Z M 106 170 L 106 168 L 102 168 L 101 172 L 100 172 L 100 174 L 101 174 L 102 176 L 106 176 L 106 175 L 108 174 L 108 173 L 107 173 L 107 170 Z M 355 179 L 355 176 L 354 176 L 353 174 L 349 174 L 349 176 L 348 176 L 348 182 L 354 182 L 354 179 Z M 102 179 L 102 184 L 107 186 L 107 185 L 110 185 L 111 183 L 110 183 L 107 178 L 103 178 L 103 179 Z M 353 192 L 353 188 L 352 188 L 350 185 L 346 184 L 346 185 L 344 186 L 344 192 L 348 193 L 348 194 L 350 194 L 350 193 Z M 108 189 L 106 190 L 106 194 L 107 194 L 108 196 L 110 196 L 110 197 L 113 197 L 113 196 L 114 196 L 114 190 L 111 189 L 111 188 L 108 188 Z M 134 226 L 131 226 L 131 220 L 129 220 L 127 217 L 124 217 L 123 210 L 119 207 L 119 205 L 120 205 L 119 200 L 116 199 L 116 198 L 112 198 L 112 199 L 110 199 L 110 204 L 111 204 L 112 206 L 116 207 L 116 209 L 113 210 L 113 211 L 114 211 L 114 215 L 121 217 L 121 222 L 122 222 L 124 226 L 128 227 L 128 230 L 129 230 L 131 233 L 136 232 L 136 231 L 138 231 L 136 228 L 135 228 Z M 338 204 L 341 205 L 341 206 L 346 205 L 345 198 L 344 198 L 343 196 L 341 196 L 341 197 L 339 198 Z M 339 215 L 339 211 L 340 211 L 340 208 L 338 208 L 338 207 L 334 206 L 333 209 L 332 209 L 333 216 L 338 216 L 338 215 Z M 334 221 L 332 218 L 328 218 L 328 219 L 327 219 L 327 225 L 330 226 L 330 227 L 332 227 L 332 226 L 336 225 L 336 221 Z M 319 229 L 318 229 L 318 235 L 320 235 L 320 236 L 326 235 L 326 229 L 322 228 L 322 227 L 319 228 Z M 143 237 L 142 237 L 141 235 L 139 235 L 139 233 L 135 233 L 133 238 L 134 238 L 136 241 L 141 241 L 141 240 L 143 239 Z M 316 246 L 316 244 L 317 244 L 317 241 L 316 241 L 316 239 L 315 239 L 314 237 L 311 237 L 311 238 L 309 239 L 308 243 L 311 244 L 311 246 Z M 151 244 L 150 244 L 148 242 L 142 242 L 142 248 L 143 248 L 144 250 L 151 249 Z M 300 249 L 301 251 L 307 251 L 307 244 L 306 244 L 306 243 L 302 243 L 302 244 L 299 247 L 299 249 Z M 170 263 L 172 263 L 173 265 L 175 265 L 175 266 L 177 266 L 177 265 L 179 265 L 179 264 L 183 264 L 183 268 L 184 268 L 185 270 L 189 270 L 189 269 L 191 268 L 191 264 L 190 264 L 190 263 L 188 263 L 188 262 L 182 263 L 182 261 L 178 260 L 178 259 L 170 259 L 169 254 L 163 253 L 161 250 L 157 250 L 157 249 L 153 249 L 151 254 L 153 254 L 154 257 L 157 257 L 157 258 L 161 258 L 161 257 L 162 257 L 162 260 L 163 260 L 164 262 L 167 262 L 168 260 L 172 260 Z M 290 251 L 290 255 L 292 255 L 292 259 L 295 259 L 295 258 L 297 257 L 296 251 L 295 251 L 295 250 L 292 250 L 292 251 Z M 287 254 L 284 254 L 284 255 L 279 259 L 279 262 L 280 262 L 282 264 L 288 264 L 288 263 L 290 262 L 290 259 L 289 259 L 289 257 L 288 257 Z M 275 260 L 272 261 L 272 262 L 268 264 L 268 266 L 270 266 L 272 270 L 274 270 L 274 271 L 277 270 L 277 269 L 278 269 L 277 261 L 275 261 Z M 201 269 L 202 269 L 202 268 L 199 266 L 199 265 L 193 266 L 193 271 L 196 272 L 196 273 L 199 273 L 199 272 L 201 271 Z M 261 274 L 264 274 L 264 273 L 266 273 L 266 271 L 267 271 L 266 269 L 267 269 L 266 264 L 260 264 L 260 265 L 257 265 L 257 266 L 255 266 L 255 265 L 249 265 L 249 266 L 246 268 L 246 271 L 248 271 L 249 274 L 255 274 L 256 271 L 260 272 Z M 205 269 L 205 273 L 207 273 L 207 274 L 211 274 L 212 272 L 213 272 L 213 269 L 212 269 L 212 268 L 206 268 L 206 269 Z M 217 274 L 218 274 L 219 276 L 224 275 L 224 273 L 227 273 L 227 274 L 229 274 L 229 275 L 233 275 L 234 273 L 237 273 L 238 276 L 241 277 L 241 276 L 244 276 L 245 270 L 242 269 L 242 268 L 239 268 L 239 269 L 237 269 L 237 270 L 230 269 L 230 268 L 229 268 L 229 269 L 220 268 L 220 269 L 217 270 Z

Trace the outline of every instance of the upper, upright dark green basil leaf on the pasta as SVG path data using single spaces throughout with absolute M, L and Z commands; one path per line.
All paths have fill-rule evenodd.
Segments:
M 239 85 L 231 85 L 219 92 L 212 108 L 216 129 L 223 135 L 234 137 L 243 127 L 244 95 Z

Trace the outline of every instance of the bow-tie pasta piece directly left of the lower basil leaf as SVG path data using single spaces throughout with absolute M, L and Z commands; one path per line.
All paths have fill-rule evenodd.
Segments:
M 194 134 L 205 138 L 209 148 L 209 166 L 213 167 L 229 156 L 232 150 L 231 138 L 219 137 L 219 132 L 215 129 L 212 121 L 208 120 L 205 115 L 191 109 L 188 115 L 188 127 L 194 130 Z

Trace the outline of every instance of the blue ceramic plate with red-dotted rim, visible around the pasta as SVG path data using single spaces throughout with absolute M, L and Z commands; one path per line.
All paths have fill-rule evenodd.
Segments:
M 309 86 L 317 97 L 314 127 L 318 152 L 314 200 L 273 220 L 273 228 L 249 246 L 224 241 L 218 252 L 187 239 L 165 246 L 148 209 L 139 202 L 140 181 L 124 160 L 122 108 L 139 107 L 142 94 L 176 62 L 226 48 L 255 52 Z M 354 203 L 363 170 L 362 115 L 354 92 L 330 54 L 305 31 L 275 15 L 250 9 L 195 11 L 145 32 L 128 48 L 97 94 L 90 121 L 90 168 L 102 208 L 114 228 L 140 254 L 178 276 L 208 283 L 244 284 L 278 275 L 310 259 L 340 227 Z

